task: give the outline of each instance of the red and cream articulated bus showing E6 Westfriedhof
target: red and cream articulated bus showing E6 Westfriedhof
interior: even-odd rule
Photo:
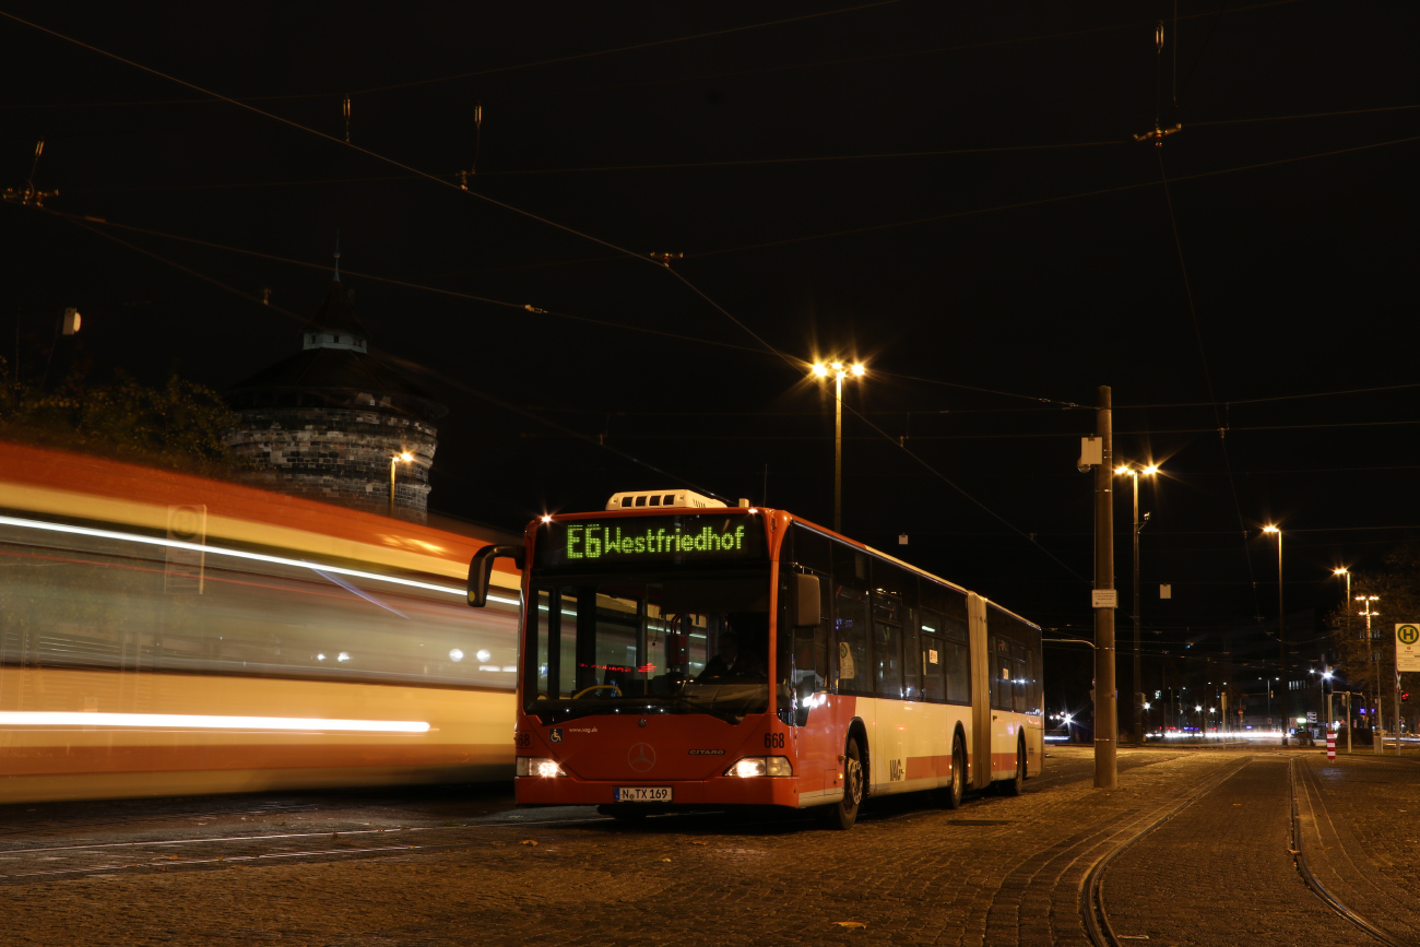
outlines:
[[[1039,628],[780,510],[687,491],[542,517],[523,569],[517,799],[613,816],[815,808],[993,781],[1044,761]]]

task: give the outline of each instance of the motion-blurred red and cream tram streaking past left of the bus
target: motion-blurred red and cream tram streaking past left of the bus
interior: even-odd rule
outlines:
[[[0,804],[511,778],[521,579],[464,605],[487,544],[4,444]]]

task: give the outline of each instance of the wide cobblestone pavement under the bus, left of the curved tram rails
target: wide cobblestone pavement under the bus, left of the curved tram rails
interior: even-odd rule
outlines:
[[[0,829],[0,943],[1083,944],[1091,865],[1242,760],[1122,751],[1119,789],[1105,792],[1089,748],[1052,747],[1022,797],[956,812],[893,797],[846,833],[746,814],[623,825],[446,791],[4,811],[31,823]],[[1223,853],[1260,825],[1227,815],[1206,835]],[[50,869],[81,873],[33,875]],[[1244,907],[1255,930],[1295,914],[1267,897]],[[1160,937],[1187,943],[1176,934]]]

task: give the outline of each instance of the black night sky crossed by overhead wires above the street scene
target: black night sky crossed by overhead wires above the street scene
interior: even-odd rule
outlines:
[[[1164,471],[1150,656],[1272,672],[1262,524],[1304,659],[1331,569],[1420,530],[1414,4],[3,9],[68,37],[0,21],[0,187],[43,136],[60,192],[0,207],[4,334],[77,305],[102,363],[223,389],[298,349],[339,230],[372,348],[450,409],[437,513],[684,484],[831,522],[807,369],[842,356],[845,531],[1066,635],[1099,385]]]

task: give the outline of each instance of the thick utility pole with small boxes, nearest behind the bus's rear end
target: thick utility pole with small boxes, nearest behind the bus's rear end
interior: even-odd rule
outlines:
[[[1115,689],[1115,447],[1110,392],[1099,386],[1095,434],[1103,450],[1095,467],[1095,788],[1119,784],[1119,691]]]

